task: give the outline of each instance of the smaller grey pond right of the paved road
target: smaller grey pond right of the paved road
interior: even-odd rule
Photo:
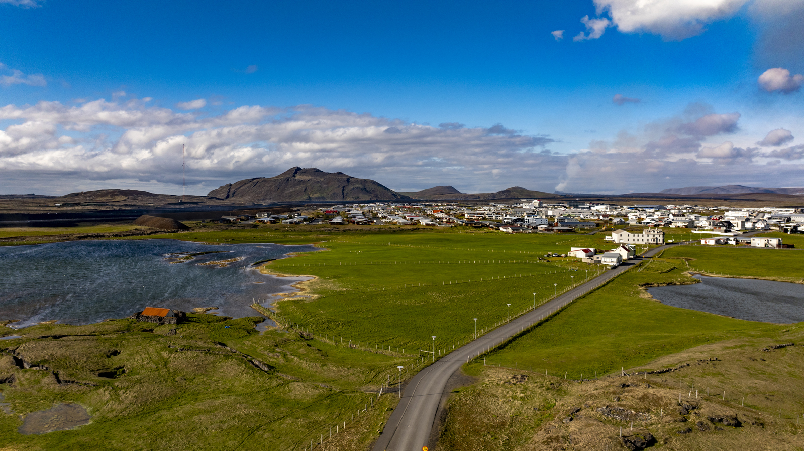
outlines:
[[[667,305],[766,323],[804,321],[804,285],[750,278],[696,275],[695,285],[654,286],[648,292]]]

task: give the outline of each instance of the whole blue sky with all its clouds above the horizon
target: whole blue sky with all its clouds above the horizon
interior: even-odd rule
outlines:
[[[399,190],[804,186],[802,19],[799,0],[0,0],[0,192],[180,193],[181,144],[191,193],[294,165]]]

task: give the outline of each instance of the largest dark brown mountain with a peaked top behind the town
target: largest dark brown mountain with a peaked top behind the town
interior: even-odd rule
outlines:
[[[213,189],[208,197],[264,204],[276,201],[392,201],[410,197],[367,178],[290,168],[276,177],[248,178]]]

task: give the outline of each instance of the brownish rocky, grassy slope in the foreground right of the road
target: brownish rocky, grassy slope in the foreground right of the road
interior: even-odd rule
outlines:
[[[435,449],[802,449],[804,349],[760,341],[695,347],[601,380],[486,367],[450,400]]]

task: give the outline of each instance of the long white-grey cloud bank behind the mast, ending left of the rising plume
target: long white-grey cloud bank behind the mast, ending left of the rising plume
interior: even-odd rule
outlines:
[[[0,120],[14,123],[0,129],[4,189],[12,181],[31,189],[58,185],[57,193],[110,180],[180,184],[182,144],[198,193],[295,165],[371,177],[398,189],[425,188],[449,173],[451,183],[481,192],[507,188],[490,185],[494,174],[505,180],[520,174],[532,182],[529,168],[564,168],[563,156],[540,152],[554,142],[549,136],[523,135],[502,124],[433,127],[306,105],[242,106],[206,116],[144,100],[100,99],[74,106],[6,105]]]

